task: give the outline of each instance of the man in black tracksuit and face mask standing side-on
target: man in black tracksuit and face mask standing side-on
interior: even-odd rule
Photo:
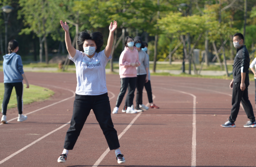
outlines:
[[[239,112],[240,102],[248,119],[250,119],[243,127],[256,127],[253,107],[248,98],[250,58],[246,46],[243,45],[243,39],[241,33],[236,33],[233,36],[233,44],[237,48],[237,54],[233,64],[233,80],[230,82],[230,89],[233,89],[232,109],[229,120],[220,125],[222,127],[235,127],[234,122]]]

